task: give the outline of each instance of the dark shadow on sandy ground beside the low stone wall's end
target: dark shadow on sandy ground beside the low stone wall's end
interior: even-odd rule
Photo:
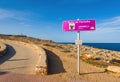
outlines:
[[[48,74],[58,74],[65,72],[61,59],[52,51],[46,50],[48,59]]]

